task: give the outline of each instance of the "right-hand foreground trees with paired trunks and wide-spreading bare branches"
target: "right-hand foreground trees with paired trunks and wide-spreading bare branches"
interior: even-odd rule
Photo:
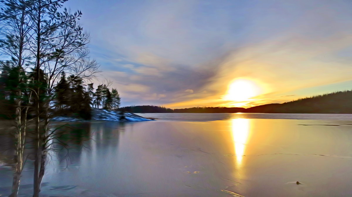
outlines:
[[[34,23],[32,28],[35,32],[32,42],[32,52],[36,59],[35,69],[43,67],[43,71],[48,76],[48,87],[46,89],[47,100],[44,109],[39,107],[39,94],[36,94],[36,133],[37,133],[37,155],[34,162],[34,196],[38,196],[40,191],[40,182],[44,175],[46,150],[49,138],[54,137],[49,129],[50,122],[50,101],[53,99],[55,86],[58,82],[59,75],[62,71],[68,71],[70,74],[90,77],[97,72],[98,65],[95,61],[88,59],[88,50],[86,43],[89,42],[89,36],[82,32],[77,20],[81,12],[73,14],[67,9],[62,9],[66,0],[31,0],[32,11],[31,20]],[[63,10],[60,12],[59,10]],[[36,76],[38,83],[39,75]],[[40,86],[40,84],[38,84]],[[39,88],[36,88],[36,93]],[[39,130],[40,111],[44,111],[45,118],[43,131]],[[39,168],[40,157],[40,168]]]

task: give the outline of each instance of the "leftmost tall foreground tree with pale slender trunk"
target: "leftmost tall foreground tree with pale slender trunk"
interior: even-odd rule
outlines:
[[[23,69],[25,61],[29,59],[28,49],[30,30],[32,23],[28,19],[30,10],[30,2],[16,1],[16,0],[3,0],[1,1],[0,11],[0,53],[6,59],[6,64],[11,68],[10,76],[10,92],[12,92],[12,100],[15,106],[15,139],[16,152],[15,161],[17,163],[15,175],[13,178],[12,193],[10,196],[17,196],[19,189],[20,174],[24,164],[24,143],[25,143],[25,130],[22,128],[23,122],[22,111],[23,95],[25,94],[25,72]],[[24,118],[26,124],[26,117]]]

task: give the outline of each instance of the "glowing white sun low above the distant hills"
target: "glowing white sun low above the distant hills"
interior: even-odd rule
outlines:
[[[259,94],[259,87],[250,80],[237,79],[228,86],[226,100],[248,101]]]

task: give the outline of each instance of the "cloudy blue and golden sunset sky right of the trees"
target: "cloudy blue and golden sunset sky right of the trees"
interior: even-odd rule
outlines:
[[[122,106],[247,108],[352,89],[349,0],[64,5],[82,11],[100,82],[114,81]],[[238,81],[251,85],[231,90]]]

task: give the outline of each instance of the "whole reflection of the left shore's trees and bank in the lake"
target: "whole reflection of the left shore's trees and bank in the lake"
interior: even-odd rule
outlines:
[[[40,186],[44,177],[45,166],[48,163],[58,162],[58,165],[68,167],[70,163],[79,161],[84,152],[88,152],[87,156],[90,159],[94,159],[97,155],[101,154],[105,156],[116,154],[120,131],[124,131],[124,128],[125,123],[116,122],[84,122],[52,125],[52,128],[50,128],[52,137],[50,140],[43,142],[43,146],[40,149],[35,148],[37,143],[36,136],[32,132],[33,128],[29,128],[29,135],[27,135],[24,148],[25,161],[35,162],[37,159],[37,162],[41,164],[38,180],[38,185]],[[17,166],[20,165],[16,152],[18,139],[16,136],[11,135],[11,129],[10,127],[3,129],[3,132],[0,134],[0,165],[11,167],[14,171],[13,187],[17,186],[18,188],[20,183],[19,177],[21,177],[21,171],[20,173],[16,173]],[[36,157],[36,151],[39,151],[39,155],[42,155],[42,152],[44,152],[45,157]]]

